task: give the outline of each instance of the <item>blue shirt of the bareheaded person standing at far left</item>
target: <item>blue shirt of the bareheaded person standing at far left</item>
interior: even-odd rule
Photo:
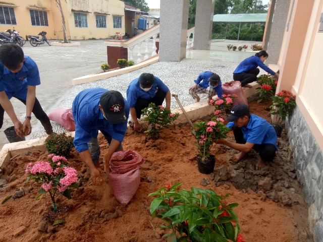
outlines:
[[[0,62],[0,92],[5,91],[9,99],[15,96],[26,100],[27,86],[40,84],[36,63],[29,56],[25,58],[21,70],[17,73],[12,73]]]

